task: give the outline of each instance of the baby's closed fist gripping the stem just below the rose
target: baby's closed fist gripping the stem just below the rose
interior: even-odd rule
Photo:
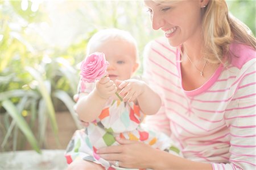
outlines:
[[[96,82],[96,90],[101,98],[108,99],[117,92],[117,86],[109,77],[103,77]]]

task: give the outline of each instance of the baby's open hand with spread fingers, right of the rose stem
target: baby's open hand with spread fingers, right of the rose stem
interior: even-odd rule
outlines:
[[[143,81],[129,79],[125,81],[116,80],[115,83],[118,89],[121,89],[119,95],[123,97],[123,101],[134,101],[144,92],[145,83]]]

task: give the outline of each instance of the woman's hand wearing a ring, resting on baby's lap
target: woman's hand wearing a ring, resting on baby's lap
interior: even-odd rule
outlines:
[[[108,160],[111,164],[119,161],[119,167],[124,168],[152,168],[155,149],[142,142],[116,138],[119,146],[101,148],[97,154]]]

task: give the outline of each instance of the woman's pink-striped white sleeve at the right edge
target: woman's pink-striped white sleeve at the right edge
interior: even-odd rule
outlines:
[[[255,114],[255,59],[241,74],[230,105],[232,112],[225,114],[230,130],[229,163],[213,163],[213,169],[256,168],[256,114]]]

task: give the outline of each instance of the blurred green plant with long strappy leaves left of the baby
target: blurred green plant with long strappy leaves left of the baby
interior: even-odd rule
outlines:
[[[42,62],[37,68],[24,68],[23,74],[26,76],[16,80],[17,84],[23,84],[22,88],[0,93],[1,106],[9,113],[4,115],[6,135],[1,145],[3,150],[10,136],[14,138],[13,148],[17,148],[15,144],[17,144],[18,140],[24,140],[18,134],[19,129],[31,146],[40,152],[39,148],[42,148],[44,144],[47,119],[51,122],[52,130],[57,136],[54,99],[63,101],[76,120],[72,107],[75,103],[72,101],[71,96],[76,93],[78,77],[76,78],[74,75],[77,74],[77,71],[69,65],[67,60],[59,57],[52,61],[48,60],[48,63]],[[14,82],[16,76],[9,79],[6,77],[10,77],[10,75],[2,76],[8,81],[1,81],[1,86]],[[76,123],[78,126],[79,123]],[[15,127],[18,127],[18,129],[16,130]],[[37,129],[37,133],[34,128]],[[33,135],[32,130],[38,135]],[[12,131],[13,135],[11,135]],[[57,139],[56,142],[58,142]],[[22,146],[20,147],[22,148]]]

